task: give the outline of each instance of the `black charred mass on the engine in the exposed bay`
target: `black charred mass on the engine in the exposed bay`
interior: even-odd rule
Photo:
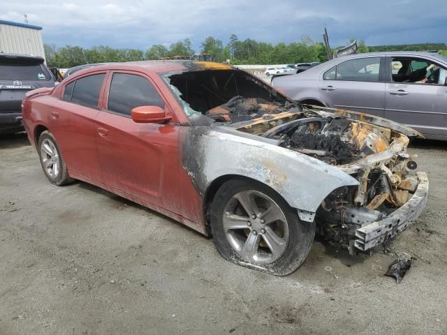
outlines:
[[[358,156],[358,150],[352,144],[343,142],[339,135],[324,135],[295,131],[286,141],[288,147],[322,150],[335,158],[338,164],[350,163]]]

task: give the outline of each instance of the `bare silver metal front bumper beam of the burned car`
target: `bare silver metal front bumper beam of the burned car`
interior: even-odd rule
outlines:
[[[405,228],[416,221],[416,218],[423,211],[428,197],[428,179],[425,172],[417,172],[419,179],[418,188],[411,198],[399,209],[393,211],[385,218],[364,225],[356,230],[356,240],[354,246],[361,251],[383,243],[387,239],[394,237]]]

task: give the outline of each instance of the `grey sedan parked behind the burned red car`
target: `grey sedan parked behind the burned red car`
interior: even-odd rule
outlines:
[[[447,140],[447,57],[432,52],[351,54],[272,85],[295,101],[372,114]]]

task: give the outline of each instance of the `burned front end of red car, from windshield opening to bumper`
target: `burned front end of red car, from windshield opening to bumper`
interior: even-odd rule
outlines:
[[[204,196],[225,175],[256,179],[351,254],[394,237],[423,211],[427,175],[406,152],[409,137],[422,135],[411,128],[297,105],[234,68],[162,77],[190,115],[184,168]]]

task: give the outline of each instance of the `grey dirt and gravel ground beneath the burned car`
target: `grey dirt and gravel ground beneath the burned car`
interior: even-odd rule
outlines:
[[[446,334],[446,144],[409,151],[430,198],[388,253],[315,241],[281,278],[99,188],[50,185],[27,138],[3,137],[0,334]],[[397,285],[383,274],[402,252],[417,260]]]

